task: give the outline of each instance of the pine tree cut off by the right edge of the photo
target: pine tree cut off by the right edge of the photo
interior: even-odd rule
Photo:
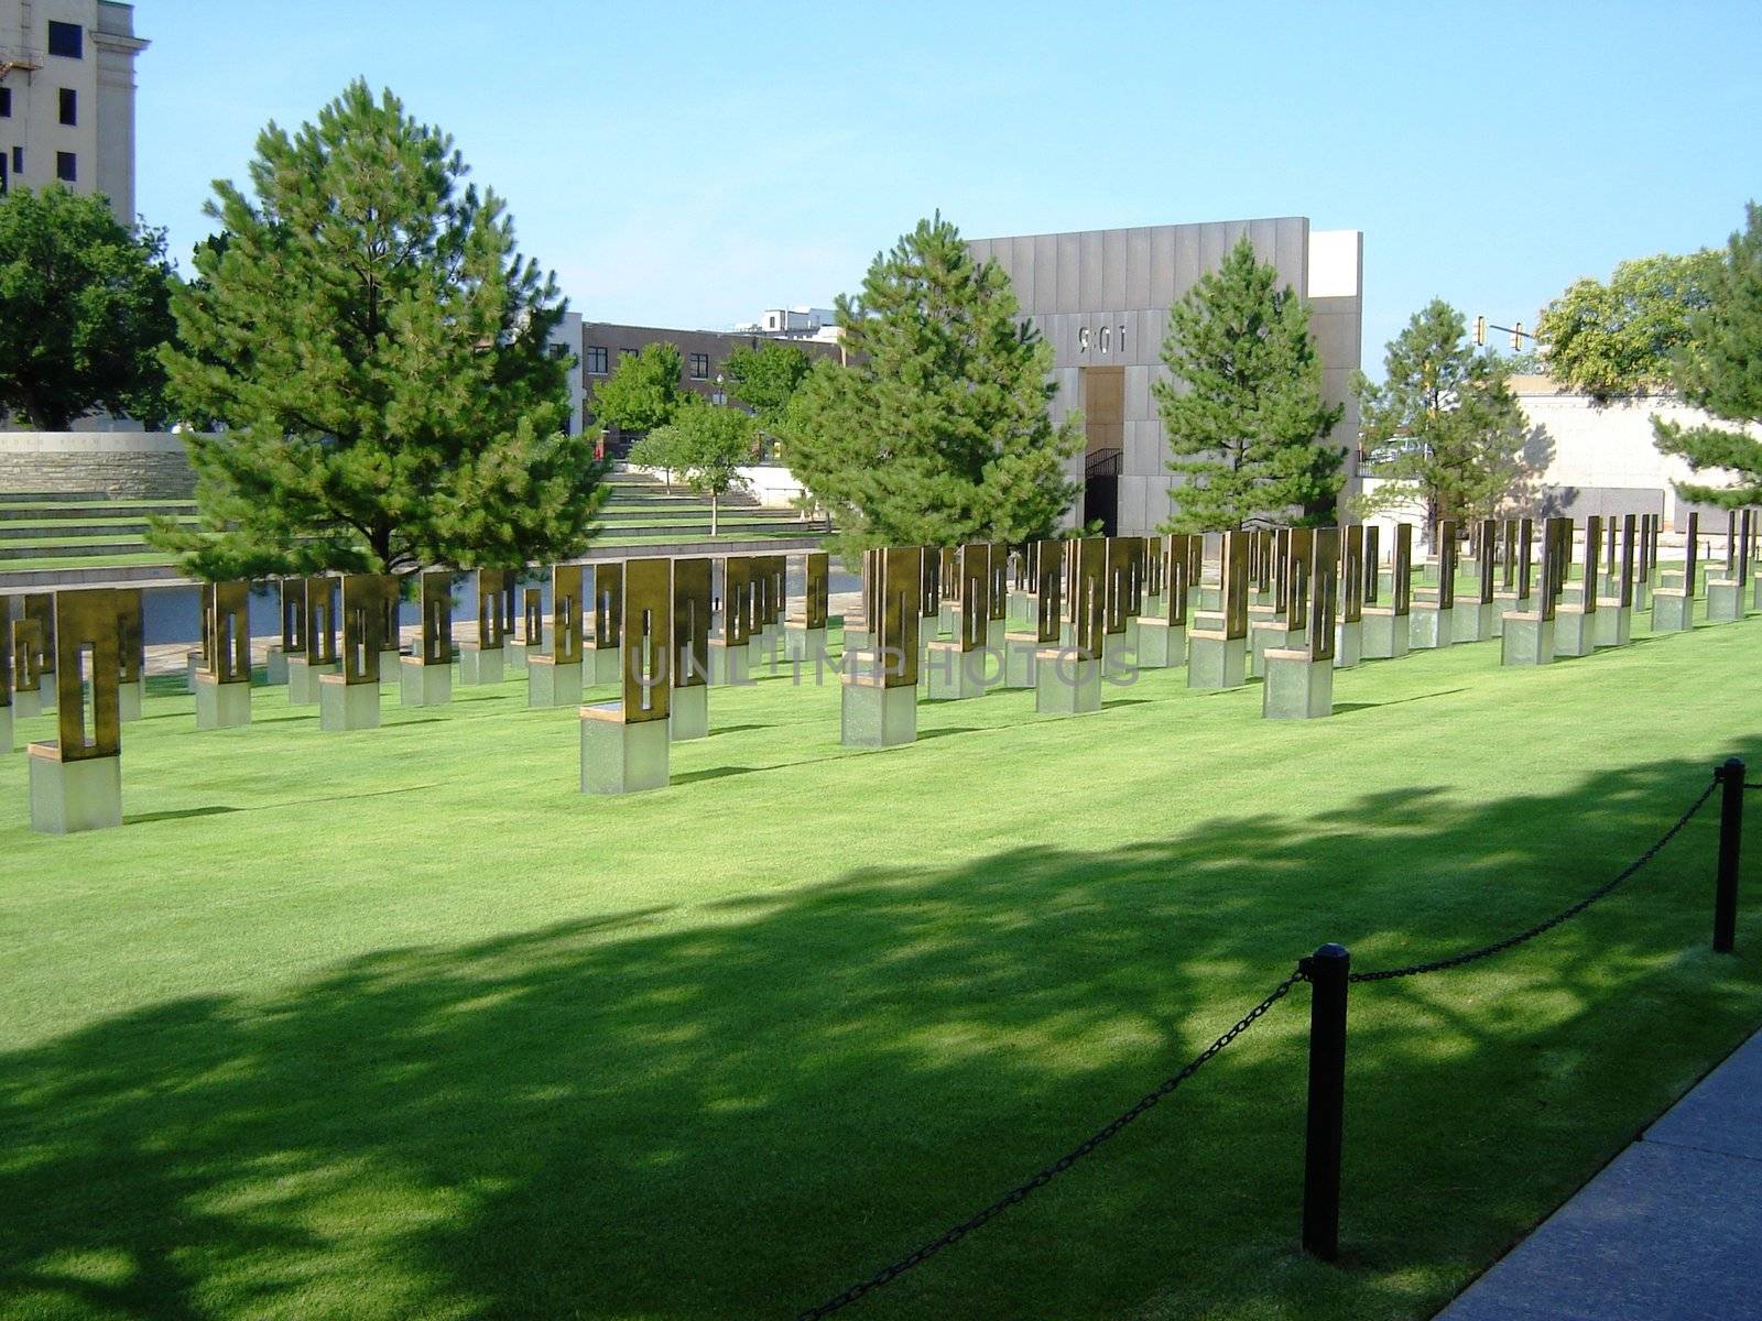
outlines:
[[[1762,206],[1744,208],[1744,231],[1732,234],[1714,269],[1707,306],[1690,321],[1688,349],[1677,358],[1683,398],[1721,423],[1762,423]],[[1723,469],[1721,486],[1676,483],[1684,500],[1741,509],[1762,504],[1762,440],[1734,426],[1684,426],[1653,417],[1656,446],[1681,454],[1695,472]]]

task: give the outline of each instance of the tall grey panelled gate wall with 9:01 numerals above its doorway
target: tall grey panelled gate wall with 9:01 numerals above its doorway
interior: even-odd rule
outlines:
[[[1154,532],[1170,513],[1168,447],[1151,382],[1161,365],[1168,308],[1242,238],[1309,303],[1322,354],[1322,393],[1346,412],[1334,440],[1348,454],[1355,490],[1359,409],[1351,375],[1364,340],[1364,236],[1313,231],[1302,217],[1142,229],[1025,234],[969,243],[1015,285],[1022,314],[1052,345],[1054,423],[1084,412],[1085,451],[1071,461],[1084,481],[1073,521],[1101,520],[1110,534]]]

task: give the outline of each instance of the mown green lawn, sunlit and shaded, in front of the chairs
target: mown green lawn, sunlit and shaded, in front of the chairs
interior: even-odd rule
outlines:
[[[1314,724],[1168,671],[1075,720],[923,705],[886,752],[765,680],[629,800],[516,682],[354,734],[153,697],[125,830],[32,835],[0,766],[0,1316],[791,1317],[1318,942],[1443,955],[1612,875],[1762,757],[1758,652],[1415,653]],[[1295,1251],[1299,988],[849,1316],[1429,1316],[1762,1023],[1757,868],[1714,956],[1713,847],[1709,810],[1547,937],[1355,988],[1339,1266]]]

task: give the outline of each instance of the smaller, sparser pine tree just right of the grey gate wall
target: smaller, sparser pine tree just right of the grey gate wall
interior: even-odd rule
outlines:
[[[1360,373],[1362,444],[1385,484],[1360,513],[1418,504],[1440,518],[1491,518],[1519,495],[1528,428],[1498,358],[1468,342],[1462,314],[1441,299],[1415,312],[1388,343],[1385,380]]]

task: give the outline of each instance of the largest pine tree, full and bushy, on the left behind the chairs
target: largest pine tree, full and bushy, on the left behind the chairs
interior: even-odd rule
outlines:
[[[451,137],[361,81],[217,183],[222,241],[173,298],[171,391],[224,430],[187,437],[203,527],[160,525],[204,578],[578,555],[601,470],[569,437],[562,303],[515,250]]]

